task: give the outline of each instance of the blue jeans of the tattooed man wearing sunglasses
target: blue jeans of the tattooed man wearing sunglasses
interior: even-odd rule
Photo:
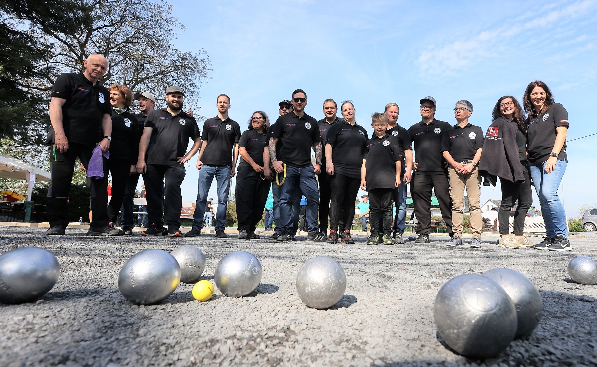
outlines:
[[[280,222],[282,231],[292,231],[300,215],[301,192],[307,198],[307,231],[318,233],[319,190],[313,166],[304,168],[286,165],[286,179],[280,191]],[[293,210],[298,204],[299,210]]]

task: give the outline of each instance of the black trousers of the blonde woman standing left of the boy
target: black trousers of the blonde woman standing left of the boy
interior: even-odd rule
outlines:
[[[330,231],[346,231],[352,227],[355,217],[355,199],[361,185],[360,178],[335,173],[328,176],[332,191],[330,201]]]

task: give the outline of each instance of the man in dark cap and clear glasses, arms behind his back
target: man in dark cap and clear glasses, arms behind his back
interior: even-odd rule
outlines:
[[[435,189],[439,209],[446,223],[446,229],[452,236],[452,204],[445,160],[441,148],[442,133],[451,127],[447,122],[436,120],[435,98],[421,99],[421,122],[408,129],[415,149],[415,173],[411,181],[411,195],[413,195],[414,213],[417,216],[416,243],[429,242],[431,233],[431,191]]]

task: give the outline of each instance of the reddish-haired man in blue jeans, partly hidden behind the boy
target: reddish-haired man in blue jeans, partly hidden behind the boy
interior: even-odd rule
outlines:
[[[394,203],[396,204],[396,215],[394,217],[393,241],[397,245],[404,244],[404,231],[407,225],[407,185],[411,181],[411,172],[413,172],[413,144],[408,130],[398,124],[398,115],[400,107],[395,103],[386,104],[384,113],[387,116],[387,134],[398,140],[398,145],[404,155],[402,155],[402,184],[394,190]]]

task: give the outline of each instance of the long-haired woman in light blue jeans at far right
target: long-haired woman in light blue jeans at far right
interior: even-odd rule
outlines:
[[[528,113],[529,169],[547,234],[540,244],[533,247],[538,250],[570,251],[566,214],[558,197],[558,187],[568,164],[568,111],[553,100],[547,85],[539,81],[527,86],[522,102]]]

